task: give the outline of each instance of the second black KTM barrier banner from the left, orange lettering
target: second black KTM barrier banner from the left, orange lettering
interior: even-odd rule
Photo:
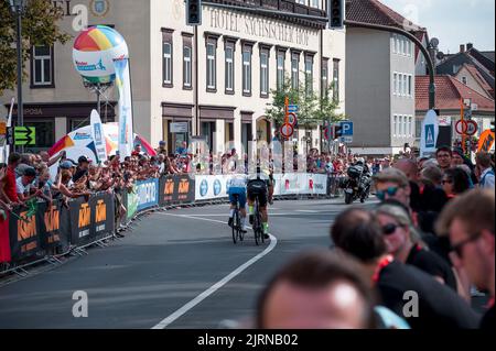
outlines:
[[[47,202],[39,202],[36,221],[40,228],[41,246],[44,250],[57,246],[67,248],[69,243],[69,215],[62,201],[54,201],[48,208]]]

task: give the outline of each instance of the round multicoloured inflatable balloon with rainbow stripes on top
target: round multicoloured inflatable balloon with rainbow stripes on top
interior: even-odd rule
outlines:
[[[76,37],[73,62],[76,70],[89,83],[111,83],[116,79],[114,59],[129,57],[128,45],[116,30],[97,25]]]

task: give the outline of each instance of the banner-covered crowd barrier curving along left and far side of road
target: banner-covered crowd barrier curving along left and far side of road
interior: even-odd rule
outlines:
[[[209,177],[213,184],[207,182],[205,186],[205,183],[197,184],[196,178],[192,179],[188,175],[162,176],[160,179],[137,182],[132,190],[98,193],[91,195],[88,201],[84,198],[71,200],[68,208],[62,201],[54,201],[51,209],[46,202],[39,202],[36,213],[17,209],[10,213],[7,227],[4,223],[0,226],[0,230],[3,230],[0,235],[9,237],[11,254],[8,263],[0,262],[3,265],[0,266],[0,277],[9,274],[24,277],[30,274],[26,270],[30,266],[41,263],[57,265],[64,256],[86,255],[87,248],[105,248],[109,240],[123,238],[122,231],[132,231],[131,224],[139,221],[141,216],[159,209],[227,204],[226,196],[201,198],[202,191],[207,191],[208,186],[215,188],[219,179],[216,178],[219,176]],[[312,175],[306,177],[312,178]],[[205,176],[197,178],[204,182]],[[322,194],[279,194],[274,200],[334,198],[339,195],[342,178],[338,175],[328,176]],[[121,205],[126,211],[121,211]],[[26,215],[31,217],[26,218]]]

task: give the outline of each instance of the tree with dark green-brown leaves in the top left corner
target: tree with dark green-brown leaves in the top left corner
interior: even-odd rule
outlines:
[[[22,58],[23,79],[28,74],[25,62],[29,61],[33,45],[52,46],[55,43],[65,44],[71,35],[58,28],[64,12],[48,0],[29,0],[22,15]],[[4,90],[15,88],[17,84],[17,18],[9,9],[9,2],[0,0],[0,95]]]

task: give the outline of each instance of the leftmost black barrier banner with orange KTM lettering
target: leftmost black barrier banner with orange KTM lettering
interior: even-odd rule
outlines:
[[[9,219],[10,251],[13,262],[33,256],[41,251],[40,221],[36,213],[26,217],[30,213],[22,208],[15,209],[14,213],[17,216],[11,215]]]

